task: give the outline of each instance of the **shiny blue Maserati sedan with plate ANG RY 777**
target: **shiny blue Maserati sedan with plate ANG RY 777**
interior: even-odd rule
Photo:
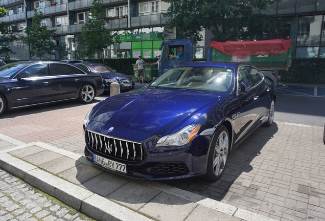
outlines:
[[[252,65],[191,62],[112,96],[84,120],[85,156],[139,179],[220,178],[229,153],[271,126],[274,85]]]

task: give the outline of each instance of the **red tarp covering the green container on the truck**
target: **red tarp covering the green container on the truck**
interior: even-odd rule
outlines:
[[[275,55],[284,54],[290,48],[292,40],[273,39],[259,41],[213,41],[210,48],[215,48],[226,55]]]

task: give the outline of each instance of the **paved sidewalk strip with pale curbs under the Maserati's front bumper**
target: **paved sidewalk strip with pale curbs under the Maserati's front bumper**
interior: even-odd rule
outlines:
[[[2,169],[98,220],[274,220],[159,182],[107,173],[48,144],[1,139],[10,146],[0,151]]]

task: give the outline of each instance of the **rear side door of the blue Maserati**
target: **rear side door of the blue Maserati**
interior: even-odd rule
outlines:
[[[271,103],[271,84],[263,80],[263,75],[258,69],[251,66],[246,66],[245,68],[253,80],[254,87],[256,87],[257,96],[259,96],[257,124],[260,124],[268,114],[268,109]]]

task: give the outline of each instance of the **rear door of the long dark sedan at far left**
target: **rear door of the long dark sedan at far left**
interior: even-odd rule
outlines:
[[[86,74],[68,63],[51,63],[50,70],[53,76],[53,100],[77,98]]]

